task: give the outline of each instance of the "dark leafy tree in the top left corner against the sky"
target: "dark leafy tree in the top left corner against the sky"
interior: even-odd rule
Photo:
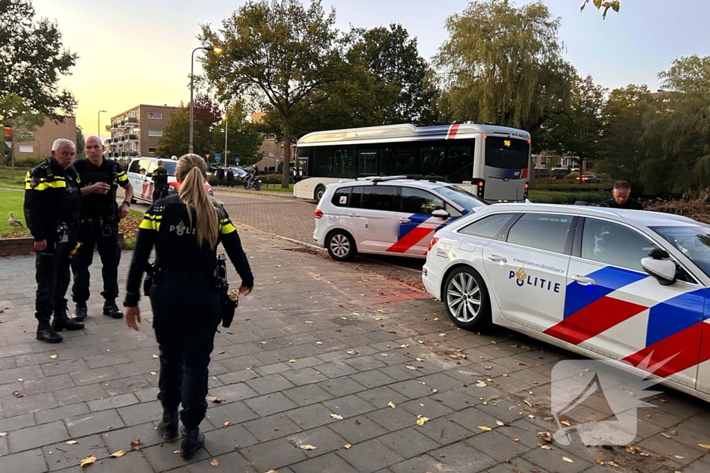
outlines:
[[[57,23],[35,18],[30,0],[0,0],[0,57],[0,123],[21,113],[11,96],[54,121],[72,113],[77,101],[58,82],[77,55],[63,47]]]

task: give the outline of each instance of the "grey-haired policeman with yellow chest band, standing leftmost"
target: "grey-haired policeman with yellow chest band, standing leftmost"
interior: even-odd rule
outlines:
[[[61,330],[84,328],[83,323],[67,316],[65,299],[82,206],[77,173],[72,167],[75,155],[74,143],[64,138],[55,140],[52,157],[25,177],[25,221],[35,240],[35,338],[47,343],[61,342],[62,335],[57,333]]]

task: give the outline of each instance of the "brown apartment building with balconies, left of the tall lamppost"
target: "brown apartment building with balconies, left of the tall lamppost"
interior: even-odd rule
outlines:
[[[120,163],[129,162],[135,156],[155,156],[163,128],[168,126],[168,118],[175,108],[141,104],[111,117],[111,123],[106,126],[111,132],[111,138],[104,143],[106,156]]]

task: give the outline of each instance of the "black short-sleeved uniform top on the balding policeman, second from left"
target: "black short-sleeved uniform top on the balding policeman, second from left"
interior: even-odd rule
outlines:
[[[85,159],[75,162],[74,167],[79,174],[80,188],[97,182],[111,186],[106,194],[87,194],[82,197],[82,219],[115,218],[118,213],[116,189],[129,185],[129,178],[121,165],[104,157],[100,166]]]

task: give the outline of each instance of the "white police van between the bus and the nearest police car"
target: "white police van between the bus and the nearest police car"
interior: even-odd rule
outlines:
[[[486,205],[435,179],[361,177],[326,188],[315,210],[313,240],[335,260],[357,252],[423,258],[436,230]]]

